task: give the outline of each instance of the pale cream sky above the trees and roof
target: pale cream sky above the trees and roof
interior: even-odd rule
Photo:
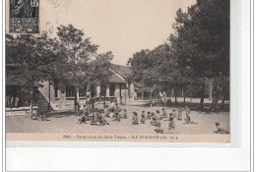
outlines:
[[[112,51],[112,63],[126,65],[133,54],[154,49],[173,32],[178,8],[196,0],[43,0],[39,4],[40,30],[72,24],[99,45],[98,53]]]

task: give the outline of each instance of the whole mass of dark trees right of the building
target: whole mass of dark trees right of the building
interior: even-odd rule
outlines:
[[[162,89],[196,89],[203,107],[206,80],[221,86],[229,79],[229,0],[197,0],[186,12],[178,9],[172,29],[168,43],[129,59],[133,78]]]

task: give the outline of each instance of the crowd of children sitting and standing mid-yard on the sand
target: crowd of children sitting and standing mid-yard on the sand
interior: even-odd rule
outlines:
[[[113,121],[121,121],[121,119],[127,119],[127,111],[126,109],[121,109],[117,103],[111,103],[109,106],[106,105],[104,108],[104,113],[100,114],[98,112],[93,112],[93,109],[89,104],[85,104],[83,106],[83,113],[81,119],[79,119],[80,124],[87,124],[87,121],[90,121],[91,125],[104,126],[109,125],[105,118],[113,118]],[[190,117],[190,109],[186,106],[185,108],[178,108],[178,113],[176,114],[176,110],[172,109],[172,111],[167,115],[167,112],[164,108],[160,110],[156,110],[156,112],[146,112],[142,111],[141,118],[139,120],[139,116],[137,112],[133,112],[132,117],[132,125],[146,124],[147,120],[151,120],[150,124],[155,126],[157,133],[163,133],[161,129],[161,120],[169,121],[168,130],[175,129],[174,119],[177,117],[177,120],[182,120],[183,111],[186,112],[185,124],[196,124],[191,121]]]

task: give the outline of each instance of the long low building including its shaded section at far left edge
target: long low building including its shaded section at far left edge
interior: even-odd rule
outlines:
[[[110,70],[112,75],[108,78],[108,83],[105,86],[88,84],[77,92],[80,104],[84,104],[88,96],[94,97],[96,101],[103,101],[104,98],[106,101],[115,100],[118,104],[132,104],[134,102],[137,95],[134,91],[134,85],[128,79],[132,73],[130,67],[112,64]],[[50,109],[74,108],[75,90],[73,87],[66,86],[65,90],[61,90],[48,81],[39,85],[36,87],[36,96],[43,99]],[[14,99],[19,97],[19,107],[29,106],[30,101],[28,93],[26,93],[26,86],[21,83],[10,82],[7,77],[6,92],[6,101],[9,101],[10,97]]]

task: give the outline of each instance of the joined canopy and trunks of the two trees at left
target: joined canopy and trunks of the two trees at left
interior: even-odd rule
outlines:
[[[97,45],[85,37],[84,31],[72,25],[57,28],[57,37],[46,32],[40,35],[6,35],[6,61],[15,64],[16,70],[8,70],[8,79],[23,81],[26,86],[51,81],[60,89],[70,86],[77,92],[87,84],[100,85],[111,75],[111,52],[97,54]],[[31,96],[32,106],[32,96]],[[75,108],[76,110],[76,108]],[[76,111],[77,112],[77,111]]]

